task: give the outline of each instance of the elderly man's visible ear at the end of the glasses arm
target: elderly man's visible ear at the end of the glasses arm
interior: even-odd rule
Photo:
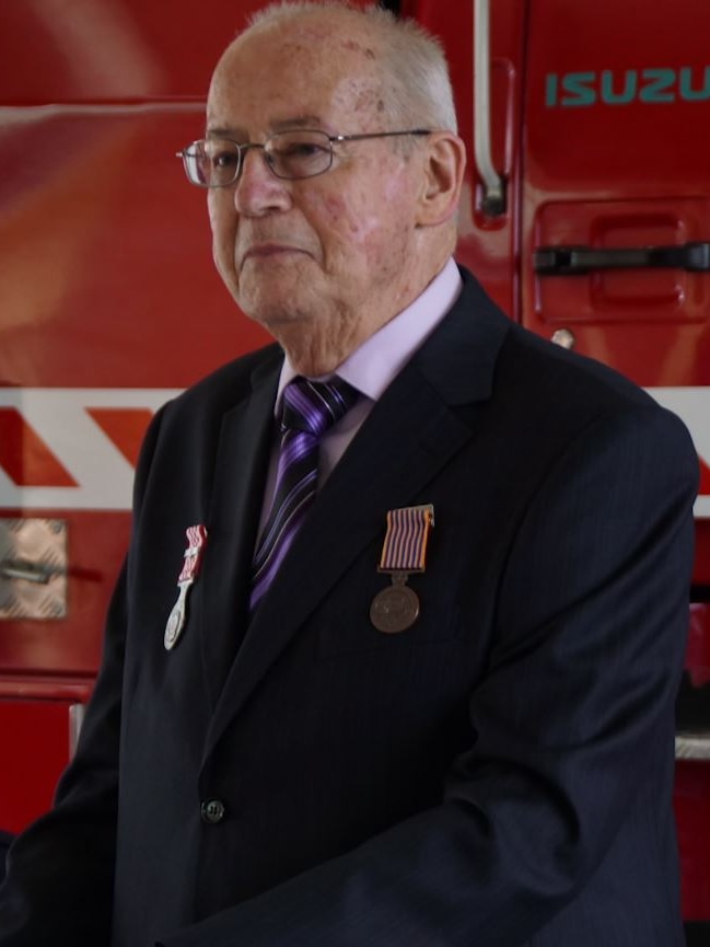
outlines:
[[[426,142],[418,227],[435,227],[456,212],[466,168],[466,146],[453,131],[434,131]]]

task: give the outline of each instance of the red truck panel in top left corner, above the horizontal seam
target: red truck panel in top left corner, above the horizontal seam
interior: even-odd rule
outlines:
[[[224,47],[266,5],[212,0],[207,11],[162,0],[4,2],[0,101],[202,100]]]

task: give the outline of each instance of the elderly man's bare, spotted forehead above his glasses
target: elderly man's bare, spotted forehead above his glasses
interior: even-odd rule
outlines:
[[[208,125],[256,112],[267,123],[323,112],[366,124],[384,107],[377,37],[360,23],[310,16],[265,24],[228,47],[212,77]]]

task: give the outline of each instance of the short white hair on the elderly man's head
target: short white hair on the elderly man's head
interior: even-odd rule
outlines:
[[[240,34],[288,24],[324,11],[340,11],[370,26],[382,44],[383,100],[393,122],[408,128],[457,131],[449,66],[440,41],[414,20],[348,0],[282,0],[258,10]]]

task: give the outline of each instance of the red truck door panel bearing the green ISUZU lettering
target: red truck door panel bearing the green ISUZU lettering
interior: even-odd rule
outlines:
[[[703,0],[542,0],[531,13],[523,321],[547,336],[574,321],[579,350],[644,385],[710,383],[710,276],[536,277],[533,253],[710,240],[708,26]]]

